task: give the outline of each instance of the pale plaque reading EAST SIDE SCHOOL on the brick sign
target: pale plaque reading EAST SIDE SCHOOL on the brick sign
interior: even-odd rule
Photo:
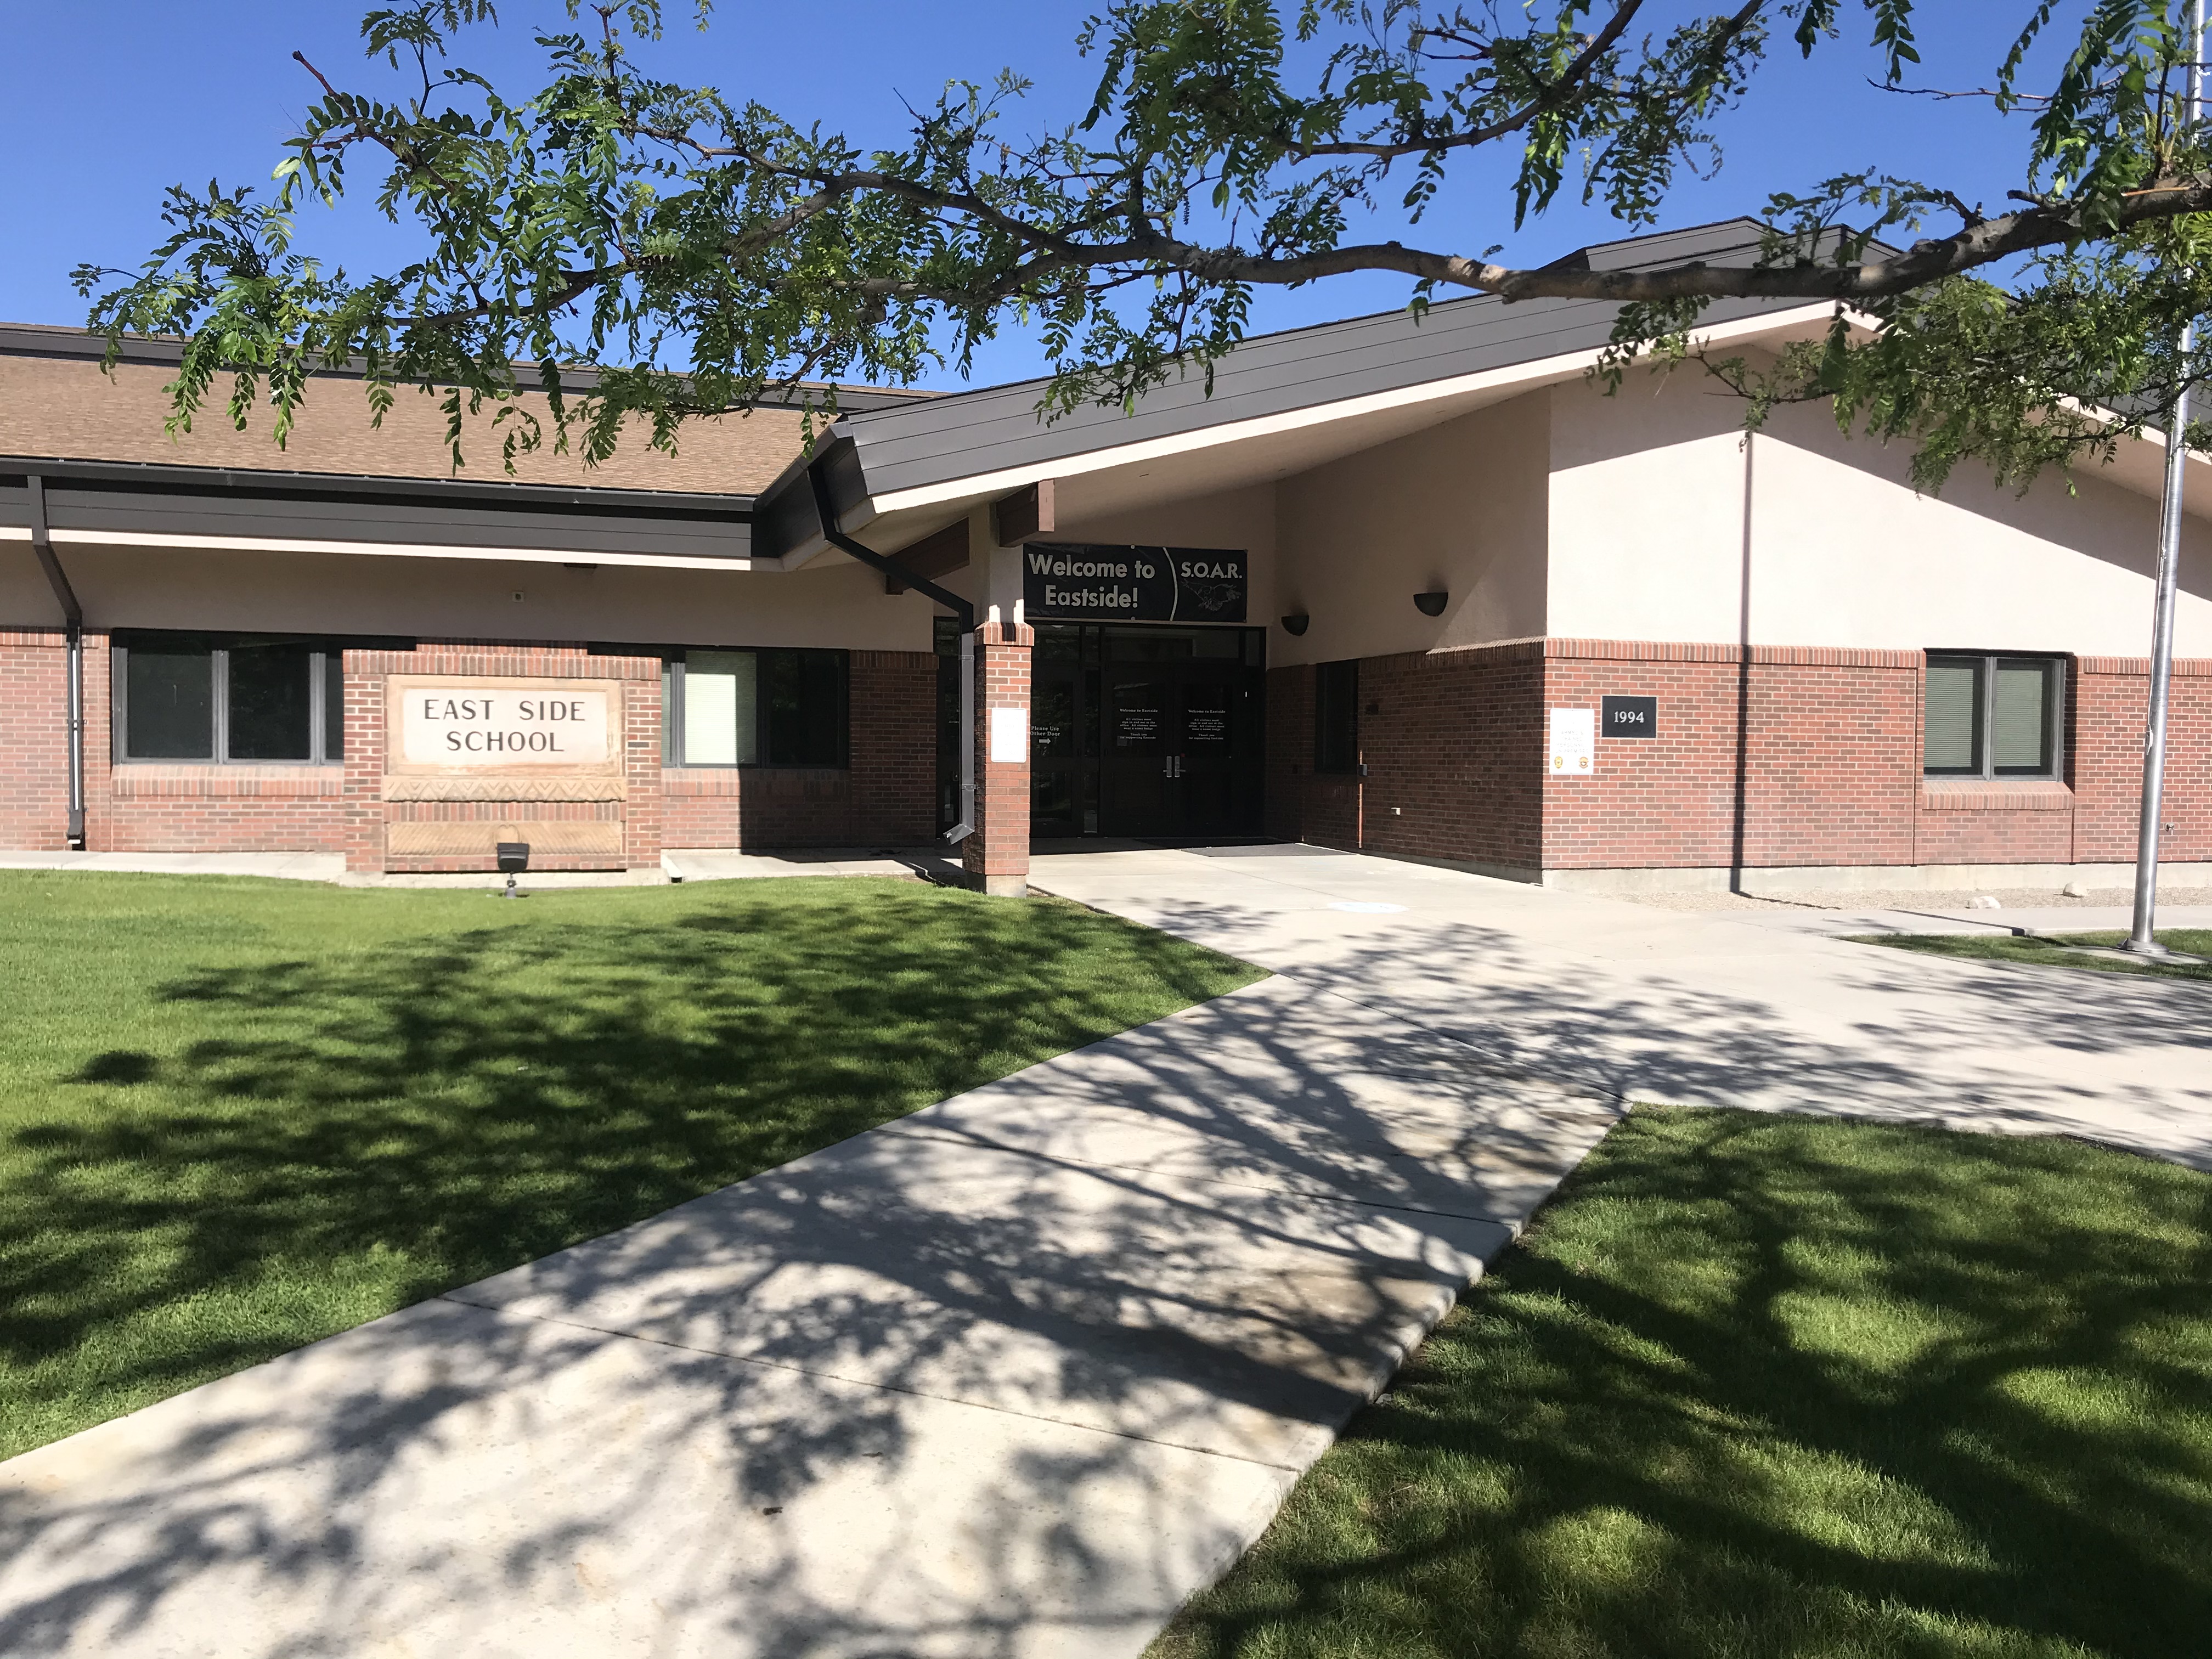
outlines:
[[[387,681],[392,768],[599,772],[619,763],[622,690],[604,679]]]

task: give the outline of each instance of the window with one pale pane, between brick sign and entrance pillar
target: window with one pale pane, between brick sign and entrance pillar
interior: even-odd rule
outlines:
[[[845,765],[843,650],[677,650],[661,690],[668,765]]]

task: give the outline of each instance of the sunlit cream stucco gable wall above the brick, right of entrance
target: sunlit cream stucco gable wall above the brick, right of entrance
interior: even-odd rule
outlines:
[[[1825,409],[1743,409],[1694,374],[1553,394],[1551,633],[1774,646],[2143,655],[2157,502],[2095,471],[2028,495],[1960,467],[1916,495],[1909,451]],[[1747,560],[1747,566],[1745,566]],[[2177,650],[2212,655],[2212,531],[2185,520]]]

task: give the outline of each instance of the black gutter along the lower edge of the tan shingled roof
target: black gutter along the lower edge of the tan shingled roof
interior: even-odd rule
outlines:
[[[150,460],[66,460],[0,456],[0,482],[40,476],[49,484],[113,493],[228,495],[270,502],[376,502],[502,513],[597,513],[606,518],[679,518],[748,522],[752,495],[708,495],[688,489],[595,489],[476,478],[383,478],[374,473],[281,473],[257,467],[170,467]]]

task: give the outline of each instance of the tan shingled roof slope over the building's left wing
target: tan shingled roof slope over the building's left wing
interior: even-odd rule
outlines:
[[[66,460],[144,460],[175,467],[254,467],[272,471],[369,473],[378,478],[451,478],[445,411],[438,398],[403,389],[383,427],[369,425],[361,380],[321,378],[310,392],[283,449],[270,438],[261,409],[248,431],[230,425],[221,400],[195,416],[192,431],[170,438],[161,422],[170,369],[119,363],[108,378],[82,358],[0,356],[0,453]],[[223,387],[228,394],[228,387]],[[544,398],[526,398],[544,411]],[[757,409],[684,425],[675,456],[648,447],[633,429],[599,467],[575,456],[540,451],[518,456],[515,471],[500,462],[504,429],[491,414],[471,420],[462,440],[462,478],[538,484],[599,484],[611,489],[697,489],[748,495],[765,489],[799,453],[796,409]]]

